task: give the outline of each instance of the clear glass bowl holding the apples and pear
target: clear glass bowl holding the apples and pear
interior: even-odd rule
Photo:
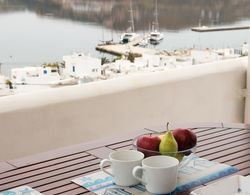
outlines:
[[[145,155],[145,157],[155,156],[155,155],[166,155],[166,156],[175,157],[181,163],[184,163],[182,161],[184,161],[184,159],[186,161],[191,156],[191,154],[194,154],[195,151],[196,151],[196,145],[193,146],[192,148],[189,148],[189,149],[186,149],[186,150],[177,151],[177,152],[162,152],[162,153],[160,153],[159,151],[144,149],[144,148],[141,148],[141,147],[137,146],[137,140],[141,136],[145,136],[145,135],[150,135],[150,136],[152,135],[152,136],[158,136],[158,137],[160,137],[160,136],[162,136],[162,133],[159,133],[159,134],[158,133],[142,134],[142,135],[139,135],[139,136],[137,136],[136,138],[133,139],[133,142],[132,142],[133,149],[142,152]]]

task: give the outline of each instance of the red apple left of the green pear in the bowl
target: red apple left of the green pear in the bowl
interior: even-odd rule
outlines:
[[[141,135],[136,142],[138,150],[143,152],[146,157],[156,155],[159,152],[161,139],[157,135]],[[157,151],[157,152],[154,152]]]

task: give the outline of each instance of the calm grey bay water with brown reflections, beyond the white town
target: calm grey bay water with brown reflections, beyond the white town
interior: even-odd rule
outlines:
[[[132,3],[136,31],[148,32],[155,0]],[[159,26],[165,39],[151,47],[240,48],[249,40],[249,30],[197,33],[190,28],[199,21],[207,26],[249,26],[248,4],[244,0],[159,1]],[[9,75],[14,67],[60,62],[73,52],[102,57],[95,46],[102,40],[119,40],[129,27],[129,9],[128,0],[0,0],[1,72]]]

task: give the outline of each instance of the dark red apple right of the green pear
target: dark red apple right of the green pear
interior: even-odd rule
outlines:
[[[173,135],[179,151],[193,148],[197,143],[197,137],[190,129],[175,129],[173,130]]]

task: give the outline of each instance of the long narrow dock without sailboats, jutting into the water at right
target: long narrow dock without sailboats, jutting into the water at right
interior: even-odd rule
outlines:
[[[213,31],[228,31],[228,30],[247,30],[250,29],[250,26],[236,26],[236,27],[208,27],[208,26],[199,26],[191,28],[195,32],[213,32]]]

